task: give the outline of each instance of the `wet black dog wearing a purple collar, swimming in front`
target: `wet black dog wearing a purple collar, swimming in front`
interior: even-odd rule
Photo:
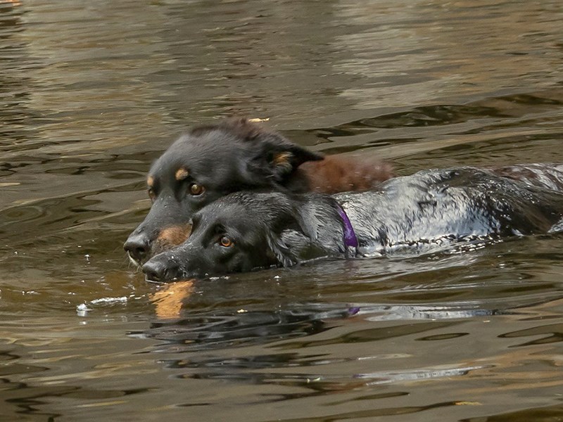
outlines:
[[[334,196],[239,192],[197,212],[189,239],[143,271],[149,280],[172,281],[317,257],[420,251],[547,233],[562,217],[563,165],[426,170],[375,191]]]

